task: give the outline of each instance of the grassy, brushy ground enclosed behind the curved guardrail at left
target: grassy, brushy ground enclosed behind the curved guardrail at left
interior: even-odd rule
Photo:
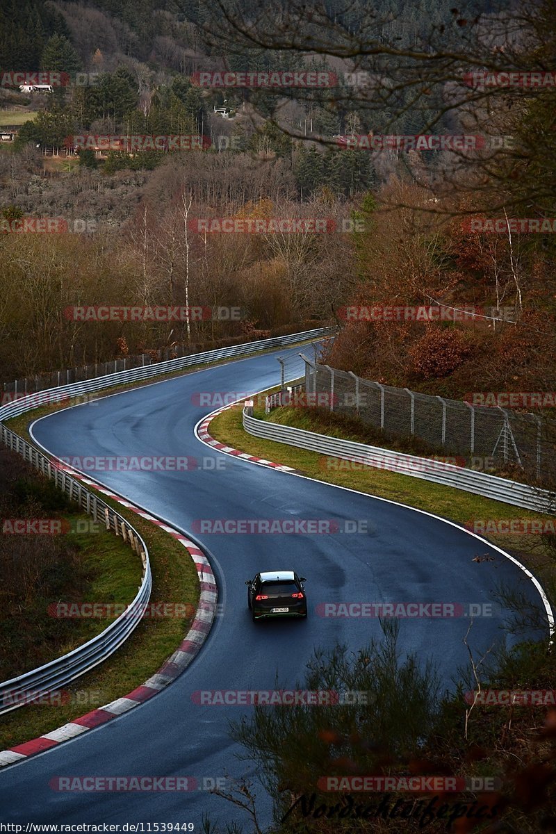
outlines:
[[[58,618],[49,606],[62,600],[128,605],[142,565],[121,537],[83,513],[15,453],[0,450],[0,475],[5,534],[0,539],[0,668],[2,680],[8,680],[81,646],[116,619]],[[21,521],[30,523],[31,532],[17,535]],[[52,532],[40,535],[39,524]]]

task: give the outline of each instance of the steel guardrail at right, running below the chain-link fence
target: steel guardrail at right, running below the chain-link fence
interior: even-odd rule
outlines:
[[[380,449],[378,446],[368,446],[352,440],[318,435],[293,426],[278,425],[268,420],[258,420],[253,417],[252,405],[246,404],[243,407],[243,428],[250,435],[264,440],[275,440],[278,443],[298,446],[299,449],[318,452],[320,455],[352,460],[360,465],[398,472],[401,475],[412,475],[414,478],[453,486],[456,490],[483,495],[484,498],[504,501],[526,510],[556,513],[556,494],[548,490],[536,489],[519,484],[518,481],[498,478],[496,475],[487,475],[439,460],[404,455],[401,452]]]

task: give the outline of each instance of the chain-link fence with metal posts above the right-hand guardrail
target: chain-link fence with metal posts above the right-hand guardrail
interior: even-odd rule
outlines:
[[[423,440],[473,468],[519,467],[539,485],[556,480],[556,420],[393,388],[303,359],[305,390],[321,407],[388,435]]]

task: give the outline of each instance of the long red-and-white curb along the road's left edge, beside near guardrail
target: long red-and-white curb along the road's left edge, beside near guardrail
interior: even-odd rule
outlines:
[[[58,730],[45,733],[44,736],[35,738],[32,741],[25,741],[23,744],[10,747],[8,750],[0,751],[0,767],[15,764],[17,761],[23,761],[23,759],[29,756],[35,756],[37,753],[58,746],[63,741],[68,741],[70,738],[80,736],[83,732],[93,730],[94,727],[105,724],[107,721],[121,716],[123,712],[132,710],[134,706],[148,701],[149,698],[157,695],[165,686],[175,681],[178,675],[181,675],[183,670],[189,666],[191,661],[193,661],[193,657],[198,654],[201,646],[203,646],[204,641],[208,637],[208,632],[213,625],[218,589],[213,570],[207,557],[203,554],[203,550],[200,550],[198,545],[188,539],[186,535],[179,533],[178,530],[174,530],[173,527],[164,524],[159,519],[154,518],[153,515],[149,515],[144,510],[140,510],[138,507],[130,504],[121,495],[115,495],[103,486],[98,485],[96,481],[81,475],[81,473],[75,472],[72,475],[78,478],[78,480],[83,481],[83,484],[93,486],[96,490],[102,492],[103,495],[108,495],[109,498],[118,501],[118,504],[127,507],[128,510],[133,510],[134,513],[137,513],[143,519],[156,524],[161,530],[165,530],[187,548],[197,568],[201,588],[198,609],[185,639],[180,643],[176,651],[173,652],[173,655],[170,655],[164,661],[163,666],[148,681],[145,681],[142,686],[138,686],[137,689],[134,689],[133,692],[129,692],[128,695],[122,698],[117,698],[116,701],[99,706],[98,709],[88,712],[84,716],[79,716],[73,719],[73,721],[69,721],[68,724],[58,727]]]

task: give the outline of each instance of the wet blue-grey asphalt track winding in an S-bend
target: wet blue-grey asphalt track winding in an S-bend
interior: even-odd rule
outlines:
[[[497,550],[453,525],[406,507],[341,490],[295,475],[220,455],[193,435],[213,410],[199,405],[202,392],[265,389],[278,382],[277,355],[294,368],[298,348],[243,359],[181,378],[115,394],[60,411],[33,426],[35,439],[61,457],[95,455],[190,455],[192,471],[92,472],[89,475],[137,502],[201,542],[212,562],[223,615],[188,670],[142,706],[29,761],[0,772],[3,822],[188,822],[200,831],[203,812],[215,822],[247,821],[233,806],[207,791],[61,792],[58,776],[193,776],[200,786],[224,774],[253,776],[238,761],[228,738],[228,720],[245,706],[199,705],[194,693],[208,690],[268,690],[278,671],[283,686],[303,681],[315,646],[346,642],[357,649],[380,635],[377,618],[324,617],[326,602],[437,602],[483,606],[501,583],[522,590],[543,610],[538,591],[523,571]],[[291,377],[295,375],[292,371]],[[218,400],[213,407],[218,407]],[[216,469],[224,461],[225,469]],[[328,522],[314,535],[197,532],[202,520],[305,520]],[[348,523],[348,525],[347,525]],[[346,525],[355,532],[344,531]],[[205,527],[206,529],[206,527]],[[337,530],[338,531],[335,531]],[[476,555],[493,560],[473,561]],[[244,580],[258,570],[293,569],[308,578],[309,616],[303,621],[254,625]],[[173,601],[173,600],[171,600]],[[475,608],[475,611],[477,608]],[[485,609],[487,611],[488,609]],[[400,646],[438,663],[450,686],[467,662],[463,636],[468,618],[401,620]],[[473,650],[510,641],[501,615],[473,623]],[[122,693],[125,694],[125,693]],[[211,781],[205,781],[211,785]],[[258,791],[263,822],[268,797]],[[249,825],[246,830],[250,830]]]

